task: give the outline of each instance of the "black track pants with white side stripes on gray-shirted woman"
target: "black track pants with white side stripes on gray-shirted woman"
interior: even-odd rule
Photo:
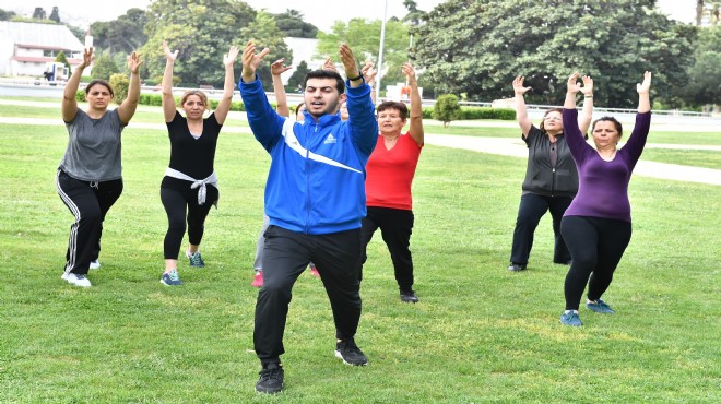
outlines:
[[[91,261],[101,252],[103,221],[122,193],[122,179],[103,182],[81,181],[58,170],[58,194],[75,216],[70,226],[66,272],[86,274]]]

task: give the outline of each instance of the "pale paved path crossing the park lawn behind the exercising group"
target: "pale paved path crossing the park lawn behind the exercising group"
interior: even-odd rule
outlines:
[[[5,104],[7,100],[0,99],[0,105]],[[10,104],[10,103],[7,103]],[[19,105],[19,102],[13,102],[13,104]],[[28,103],[29,104],[29,103]],[[33,104],[51,104],[52,103],[33,103]],[[151,107],[149,107],[151,108]],[[152,107],[153,110],[156,110],[157,107]],[[141,108],[139,108],[141,109]],[[144,108],[142,108],[144,109]],[[232,115],[243,114],[243,112],[233,112]],[[58,111],[58,115],[60,112]],[[63,126],[60,117],[58,119],[37,119],[37,118],[4,118],[0,117],[0,123],[10,123],[10,124],[48,124],[48,126]],[[492,126],[494,122],[488,122]],[[505,122],[499,122],[505,123]],[[509,122],[510,123],[510,122]],[[516,123],[513,123],[516,126]],[[149,122],[130,122],[128,127],[130,129],[153,129],[153,130],[166,130],[166,126],[163,123],[149,123]],[[689,130],[685,128],[685,130]],[[231,133],[251,133],[250,128],[248,127],[224,127],[224,132]],[[490,154],[500,154],[504,156],[511,157],[528,157],[528,148],[525,143],[519,139],[511,138],[483,138],[483,136],[468,136],[468,135],[456,135],[456,134],[433,134],[426,133],[425,140],[427,144],[433,144],[436,146],[444,147],[453,147],[453,148],[464,148],[482,153]],[[709,146],[709,145],[681,145],[681,144],[653,144],[648,143],[646,147],[649,148],[676,148],[676,150],[707,150],[721,152],[721,146]],[[682,166],[678,164],[667,164],[667,163],[657,163],[649,161],[639,161],[634,169],[635,175],[660,178],[660,179],[670,179],[676,181],[686,181],[686,182],[698,182],[698,183],[709,183],[714,186],[721,186],[721,169],[713,168],[701,168],[701,167],[692,167],[692,166]]]

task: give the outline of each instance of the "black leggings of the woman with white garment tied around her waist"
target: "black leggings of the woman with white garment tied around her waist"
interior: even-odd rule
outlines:
[[[163,241],[163,254],[166,260],[177,260],[182,236],[186,234],[186,207],[188,210],[188,242],[198,246],[203,239],[205,230],[205,217],[213,202],[217,200],[217,188],[208,186],[205,203],[198,204],[198,190],[177,190],[173,188],[161,188],[161,201],[168,215],[168,231]]]

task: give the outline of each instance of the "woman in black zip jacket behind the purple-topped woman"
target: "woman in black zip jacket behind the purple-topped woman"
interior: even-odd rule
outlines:
[[[578,191],[576,164],[564,139],[564,123],[560,108],[549,109],[536,128],[529,119],[523,76],[513,80],[516,99],[516,121],[521,127],[522,138],[529,147],[528,167],[523,180],[521,204],[518,209],[513,246],[508,271],[523,271],[529,262],[533,247],[533,234],[541,217],[551,211],[555,248],[553,261],[569,264],[570,253],[560,236],[560,218]],[[586,133],[593,111],[593,94],[584,94],[583,111],[578,126]]]

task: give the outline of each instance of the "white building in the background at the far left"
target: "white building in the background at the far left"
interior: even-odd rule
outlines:
[[[0,75],[43,76],[59,52],[82,62],[83,44],[67,26],[0,21]]]

